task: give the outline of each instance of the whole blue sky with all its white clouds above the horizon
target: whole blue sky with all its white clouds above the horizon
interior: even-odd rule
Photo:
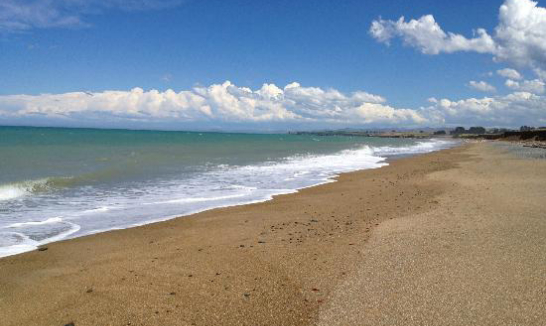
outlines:
[[[546,125],[545,6],[2,0],[0,125]]]

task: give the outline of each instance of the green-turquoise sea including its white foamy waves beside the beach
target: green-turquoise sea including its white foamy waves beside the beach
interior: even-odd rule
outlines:
[[[269,200],[447,140],[0,127],[0,257]]]

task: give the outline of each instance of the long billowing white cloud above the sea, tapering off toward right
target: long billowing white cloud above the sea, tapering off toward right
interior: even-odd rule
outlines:
[[[0,120],[30,117],[69,122],[180,122],[185,126],[260,123],[333,125],[418,125],[427,119],[417,110],[388,106],[379,95],[357,91],[264,84],[258,90],[226,81],[175,92],[166,90],[72,92],[0,96]]]

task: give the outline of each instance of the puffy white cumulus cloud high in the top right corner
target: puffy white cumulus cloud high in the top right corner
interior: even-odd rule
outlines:
[[[533,68],[537,74],[546,70],[546,8],[531,0],[505,0],[492,35],[481,28],[472,37],[445,32],[432,15],[410,21],[378,19],[370,33],[383,43],[399,37],[425,54],[490,53],[497,61]]]

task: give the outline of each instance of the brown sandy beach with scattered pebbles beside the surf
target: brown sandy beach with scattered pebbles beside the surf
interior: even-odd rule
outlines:
[[[470,143],[0,259],[0,325],[544,325],[546,160]]]

